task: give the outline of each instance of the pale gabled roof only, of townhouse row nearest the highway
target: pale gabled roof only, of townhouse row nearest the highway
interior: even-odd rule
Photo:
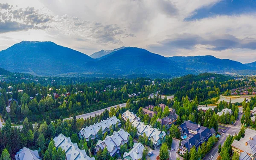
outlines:
[[[79,134],[81,134],[82,137],[88,139],[91,135],[96,136],[100,128],[102,128],[102,131],[104,131],[105,129],[111,128],[112,125],[116,125],[117,122],[121,123],[120,120],[116,118],[116,116],[113,116],[111,118],[98,122],[95,125],[90,125],[89,127],[82,128]]]

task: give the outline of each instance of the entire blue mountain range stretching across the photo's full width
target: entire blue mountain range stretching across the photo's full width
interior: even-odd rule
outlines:
[[[22,41],[0,52],[0,67],[40,76],[155,76],[197,73],[256,74],[256,62],[242,64],[211,55],[164,57],[136,47],[101,50],[88,56],[53,42]]]

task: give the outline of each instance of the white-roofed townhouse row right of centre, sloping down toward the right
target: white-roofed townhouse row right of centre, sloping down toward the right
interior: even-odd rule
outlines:
[[[160,147],[166,138],[166,133],[164,131],[152,128],[150,125],[145,125],[143,122],[134,121],[132,125],[137,128],[138,136],[143,136],[145,133],[148,140],[152,141],[154,148]]]

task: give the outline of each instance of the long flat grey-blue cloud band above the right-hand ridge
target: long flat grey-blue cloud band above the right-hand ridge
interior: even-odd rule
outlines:
[[[207,49],[212,51],[223,51],[226,49],[256,49],[255,38],[239,39],[233,35],[209,35],[205,38],[193,34],[172,35],[159,41],[157,44],[149,45],[153,50],[195,49],[197,45],[210,46]]]

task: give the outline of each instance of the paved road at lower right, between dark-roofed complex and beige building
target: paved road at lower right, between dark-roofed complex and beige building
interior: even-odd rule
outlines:
[[[222,133],[220,140],[214,145],[212,150],[204,157],[203,160],[216,160],[218,157],[218,145],[221,144],[221,146],[224,144],[225,140],[227,139],[228,135],[234,136],[235,134],[238,134],[241,128],[241,117],[243,113],[243,108],[239,108],[239,115],[238,115],[238,120],[234,123],[234,125],[229,125],[229,126],[224,126],[224,125],[219,125],[218,132],[222,133],[221,131],[224,130],[224,133]],[[222,129],[225,128],[225,129]]]

